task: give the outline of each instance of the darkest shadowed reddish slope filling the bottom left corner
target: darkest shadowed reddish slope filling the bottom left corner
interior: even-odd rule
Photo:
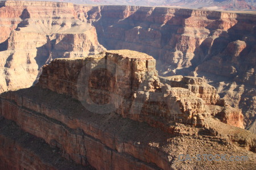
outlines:
[[[94,169],[61,157],[59,148],[0,117],[1,169]]]

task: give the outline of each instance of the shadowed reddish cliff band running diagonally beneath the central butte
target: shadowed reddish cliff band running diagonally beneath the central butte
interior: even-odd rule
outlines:
[[[40,91],[38,91],[39,100],[32,101],[30,95],[26,97],[15,93],[8,94],[4,97],[5,99],[1,100],[1,115],[15,121],[28,133],[43,138],[52,146],[60,148],[65,158],[83,165],[86,165],[86,160],[88,160],[90,165],[96,169],[119,169],[121,167],[124,169],[155,169],[157,167],[154,164],[168,169],[168,158],[164,156],[166,153],[158,152],[158,148],[144,144],[143,146],[134,145],[133,141],[126,141],[123,138],[127,129],[120,130],[118,127],[125,125],[132,130],[135,122],[122,120],[113,114],[93,114],[84,110],[79,102],[67,97],[65,97],[67,100],[63,100],[63,96],[52,94],[50,91],[48,93],[39,88],[31,90]],[[55,96],[52,96],[51,101],[64,102],[65,105],[71,104],[66,110],[68,112],[65,111],[67,108],[61,110],[55,108],[56,104],[49,105],[48,102],[39,104],[40,100],[50,99],[47,93]],[[19,105],[23,109],[19,108]],[[78,112],[73,107],[78,109]],[[108,117],[110,122],[105,121]],[[148,129],[147,127],[145,130],[154,131],[154,128]],[[135,137],[141,138],[138,135]],[[145,157],[144,152],[147,152],[148,156]],[[165,158],[162,159],[163,156],[160,155]]]

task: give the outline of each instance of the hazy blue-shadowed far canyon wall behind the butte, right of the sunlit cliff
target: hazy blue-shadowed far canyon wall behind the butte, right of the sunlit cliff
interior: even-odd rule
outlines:
[[[255,15],[164,7],[76,8],[88,16],[107,49],[150,54],[163,76],[204,76],[226,103],[242,109],[247,125],[255,120]]]

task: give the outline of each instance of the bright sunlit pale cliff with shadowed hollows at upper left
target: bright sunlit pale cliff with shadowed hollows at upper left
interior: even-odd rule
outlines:
[[[0,92],[30,87],[54,58],[104,50],[71,3],[1,1],[0,14]]]

